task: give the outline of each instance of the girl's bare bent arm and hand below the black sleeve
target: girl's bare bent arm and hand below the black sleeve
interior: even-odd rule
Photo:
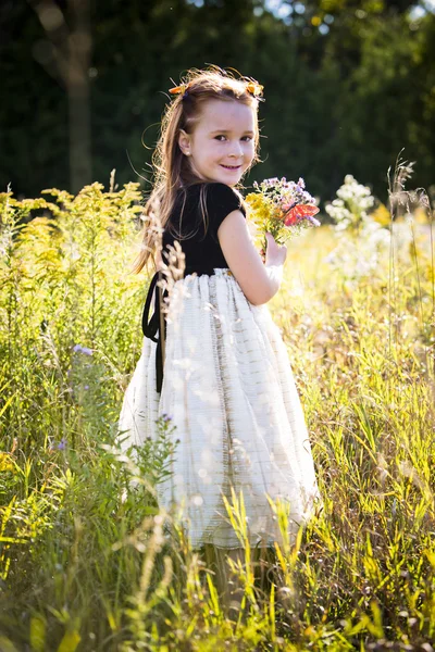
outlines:
[[[225,217],[217,229],[217,238],[228,267],[248,301],[253,305],[268,303],[279,289],[287,248],[277,246],[269,234],[264,265],[240,211],[233,211]]]

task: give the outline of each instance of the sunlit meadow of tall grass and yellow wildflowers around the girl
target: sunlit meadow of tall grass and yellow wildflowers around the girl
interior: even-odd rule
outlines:
[[[171,422],[135,461],[115,442],[149,280],[129,273],[139,186],[0,193],[2,652],[435,649],[432,213],[368,216],[347,188],[336,225],[290,242],[269,304],[323,510],[252,569],[235,497],[235,620],[176,515],[163,528]]]

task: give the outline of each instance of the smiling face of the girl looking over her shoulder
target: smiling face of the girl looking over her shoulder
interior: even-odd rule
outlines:
[[[235,186],[252,163],[256,129],[252,106],[208,100],[192,133],[181,131],[178,145],[198,178]]]

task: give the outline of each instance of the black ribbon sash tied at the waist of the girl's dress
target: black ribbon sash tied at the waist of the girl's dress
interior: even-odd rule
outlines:
[[[214,268],[213,267],[209,267],[207,269],[194,269],[191,267],[186,267],[184,271],[184,277],[188,276],[189,274],[197,274],[198,276],[202,276],[202,274],[207,274],[208,276],[213,276],[214,275]],[[161,280],[163,278],[161,272],[156,272],[154,276],[151,278],[149,288],[148,288],[148,293],[147,293],[147,298],[145,300],[145,306],[144,306],[144,313],[142,313],[142,333],[145,335],[145,337],[148,337],[150,340],[152,340],[153,342],[157,342],[157,349],[156,349],[156,391],[157,392],[161,392],[162,391],[162,385],[163,385],[163,366],[164,366],[164,360],[163,360],[163,341],[166,340],[166,315],[163,311],[163,331],[161,333],[161,328],[160,328],[160,315],[162,312],[162,306],[160,305],[160,292],[159,292],[159,286],[157,285],[159,280]],[[162,297],[162,302],[164,301],[164,299],[169,296],[167,289],[164,288],[161,291],[161,297]],[[150,312],[150,308],[151,308],[151,301],[152,301],[152,297],[154,297],[154,312],[151,315],[151,317],[149,316],[149,312]]]

